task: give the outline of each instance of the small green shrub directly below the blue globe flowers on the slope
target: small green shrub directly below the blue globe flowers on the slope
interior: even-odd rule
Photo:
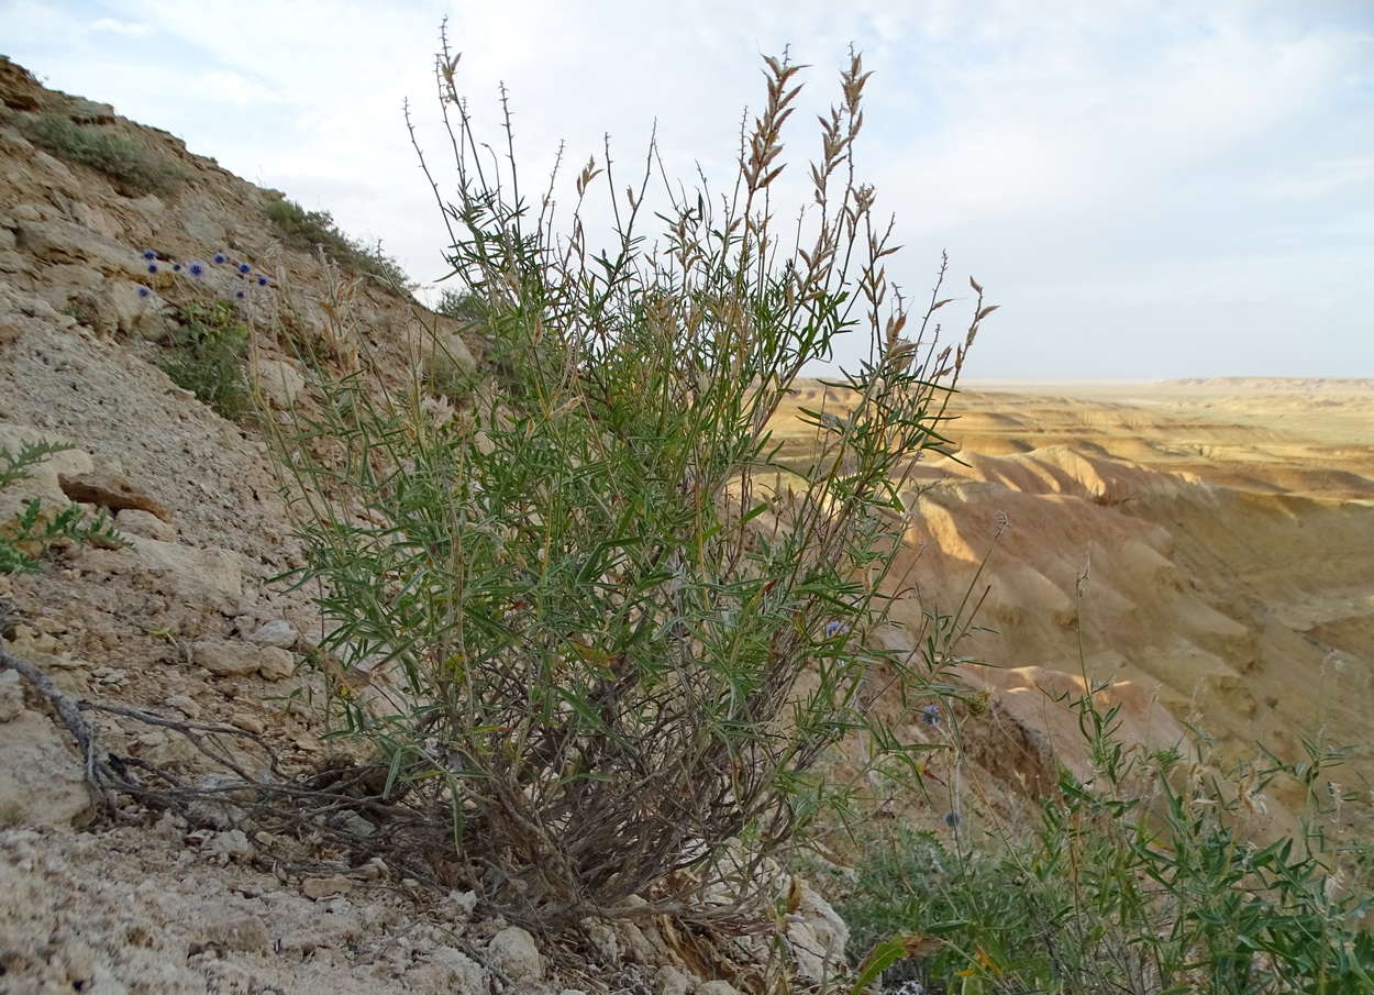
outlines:
[[[232,305],[223,300],[191,301],[177,324],[159,363],[162,371],[223,418],[246,418],[253,411],[245,377],[249,330]]]

